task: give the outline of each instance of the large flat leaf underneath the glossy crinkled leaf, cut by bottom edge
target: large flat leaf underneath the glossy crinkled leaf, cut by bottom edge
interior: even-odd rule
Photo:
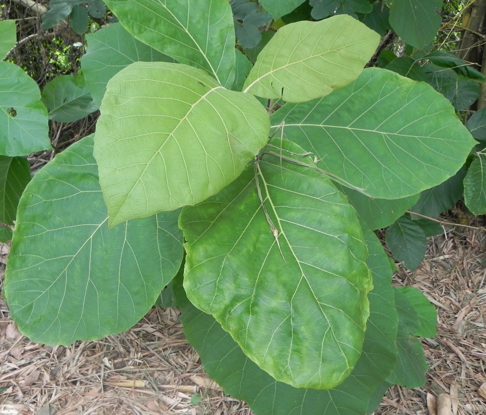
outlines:
[[[176,287],[186,337],[201,356],[209,376],[227,394],[247,401],[257,415],[364,415],[369,397],[390,373],[397,353],[397,312],[390,264],[378,239],[370,231],[364,235],[373,290],[369,293],[370,316],[363,353],[347,379],[331,390],[297,389],[276,381],[243,354],[212,316],[184,298],[182,287]]]

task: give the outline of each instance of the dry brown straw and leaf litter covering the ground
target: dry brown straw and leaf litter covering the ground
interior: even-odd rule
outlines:
[[[7,252],[2,245],[2,262]],[[486,382],[485,252],[486,234],[448,228],[431,239],[415,273],[395,275],[436,305],[438,335],[423,341],[427,385],[392,388],[376,415],[434,414],[440,393],[451,396],[454,415],[486,414],[486,391],[478,392]],[[174,309],[153,309],[125,333],[70,347],[30,343],[5,302],[0,309],[0,414],[251,414],[204,374]]]

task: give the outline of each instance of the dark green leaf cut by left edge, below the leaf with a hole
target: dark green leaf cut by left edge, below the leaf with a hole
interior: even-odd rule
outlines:
[[[25,157],[0,156],[1,223],[14,224],[18,201],[30,179],[30,164]]]

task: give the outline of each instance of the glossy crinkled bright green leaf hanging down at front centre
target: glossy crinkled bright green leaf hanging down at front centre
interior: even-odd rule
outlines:
[[[360,356],[371,288],[366,247],[356,212],[330,180],[280,161],[265,155],[256,173],[249,166],[183,209],[184,287],[277,380],[328,389]]]

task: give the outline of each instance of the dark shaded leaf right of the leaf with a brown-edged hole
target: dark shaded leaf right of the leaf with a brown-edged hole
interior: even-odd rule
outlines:
[[[59,75],[42,90],[49,119],[59,122],[81,120],[98,109],[82,75]]]

